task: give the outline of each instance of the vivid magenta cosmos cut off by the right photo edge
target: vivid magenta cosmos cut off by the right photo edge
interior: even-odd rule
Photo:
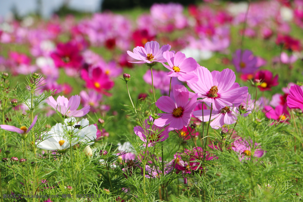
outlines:
[[[289,108],[303,110],[303,90],[300,86],[294,85],[289,89],[289,95],[286,98]]]

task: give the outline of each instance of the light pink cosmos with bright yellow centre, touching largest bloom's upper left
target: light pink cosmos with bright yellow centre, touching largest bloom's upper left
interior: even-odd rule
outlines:
[[[180,81],[190,79],[191,82],[198,81],[198,77],[192,73],[197,69],[197,62],[194,58],[186,58],[184,53],[177,52],[175,54],[171,51],[165,51],[163,57],[167,60],[168,65],[164,63],[162,65],[170,70],[167,76],[178,77]]]

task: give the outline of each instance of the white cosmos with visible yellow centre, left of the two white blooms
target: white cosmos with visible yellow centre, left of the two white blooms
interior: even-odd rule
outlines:
[[[61,123],[56,124],[43,137],[43,141],[36,143],[37,147],[45,150],[67,149],[85,138],[84,132]],[[72,141],[70,142],[70,140]]]

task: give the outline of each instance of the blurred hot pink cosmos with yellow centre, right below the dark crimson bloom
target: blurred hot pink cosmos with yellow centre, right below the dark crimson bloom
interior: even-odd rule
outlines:
[[[92,88],[105,95],[110,95],[105,90],[110,90],[114,86],[114,82],[99,67],[88,68],[88,71],[82,69],[81,77],[86,82],[86,88]]]

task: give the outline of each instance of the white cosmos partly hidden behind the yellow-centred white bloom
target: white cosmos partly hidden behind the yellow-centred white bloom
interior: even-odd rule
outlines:
[[[89,125],[87,118],[83,118],[78,123],[74,117],[66,118],[64,124],[72,125],[72,127],[77,127],[80,131],[84,132],[85,137],[82,142],[93,144],[94,140],[97,138],[97,127],[95,125]]]

